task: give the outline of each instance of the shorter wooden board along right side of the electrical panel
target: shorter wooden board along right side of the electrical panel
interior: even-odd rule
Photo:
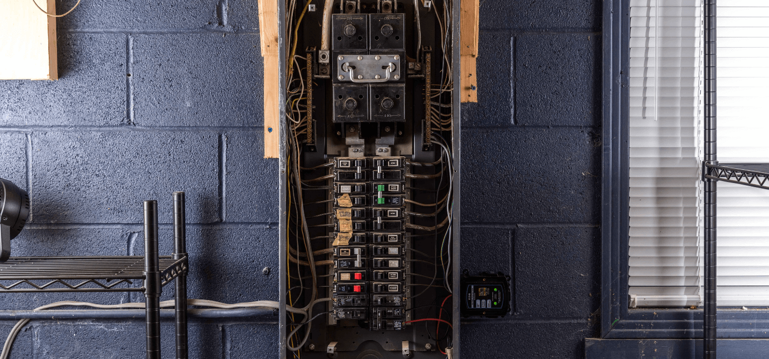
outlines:
[[[478,8],[480,0],[461,0],[459,42],[460,98],[462,102],[478,102],[478,80],[475,58],[478,57]]]

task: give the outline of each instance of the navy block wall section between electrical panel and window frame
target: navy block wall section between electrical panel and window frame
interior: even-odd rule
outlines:
[[[511,274],[514,314],[464,321],[464,357],[581,358],[598,336],[601,12],[598,0],[481,2],[461,267]]]

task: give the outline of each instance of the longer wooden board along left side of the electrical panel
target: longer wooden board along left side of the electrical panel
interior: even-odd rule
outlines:
[[[265,158],[280,155],[280,52],[278,44],[278,0],[258,0],[259,38],[264,59]]]

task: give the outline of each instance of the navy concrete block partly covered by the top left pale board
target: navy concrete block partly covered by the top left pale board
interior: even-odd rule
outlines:
[[[125,45],[122,34],[58,34],[59,79],[0,81],[0,125],[125,122]]]

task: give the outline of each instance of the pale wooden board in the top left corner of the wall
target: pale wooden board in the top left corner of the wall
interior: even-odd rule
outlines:
[[[55,12],[55,0],[38,0]],[[56,18],[32,0],[0,1],[0,80],[55,80]]]

